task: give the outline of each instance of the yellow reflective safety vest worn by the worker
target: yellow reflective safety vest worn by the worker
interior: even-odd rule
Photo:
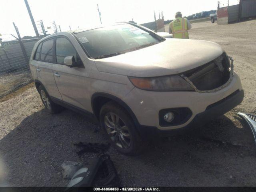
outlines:
[[[172,30],[173,38],[189,39],[187,19],[178,17],[170,22],[169,27]]]

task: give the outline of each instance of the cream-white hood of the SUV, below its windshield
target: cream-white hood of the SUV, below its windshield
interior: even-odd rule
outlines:
[[[134,77],[179,74],[206,64],[223,53],[214,42],[166,39],[125,54],[94,60],[101,72]]]

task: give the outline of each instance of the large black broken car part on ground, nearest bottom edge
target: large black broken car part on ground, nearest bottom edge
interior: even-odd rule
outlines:
[[[119,186],[116,168],[109,155],[103,154],[89,160],[88,165],[79,169],[70,180],[67,191],[74,187]]]

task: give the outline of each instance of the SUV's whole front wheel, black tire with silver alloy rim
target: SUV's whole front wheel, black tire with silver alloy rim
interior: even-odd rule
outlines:
[[[107,102],[102,106],[100,124],[110,142],[120,153],[136,155],[141,152],[144,142],[142,142],[135,124],[128,112],[116,102]]]

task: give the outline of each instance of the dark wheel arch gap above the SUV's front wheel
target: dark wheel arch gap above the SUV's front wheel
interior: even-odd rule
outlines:
[[[138,126],[140,126],[140,124],[138,122],[138,119],[136,118],[134,112],[131,110],[131,108],[124,101],[122,101],[120,98],[118,98],[116,96],[113,96],[113,95],[107,94],[107,93],[102,93],[102,92],[94,93],[92,95],[92,98],[91,98],[92,111],[93,111],[93,114],[96,116],[96,118],[98,120],[100,120],[100,109],[101,109],[101,107],[106,102],[109,102],[109,101],[114,101],[117,104],[119,104],[120,106],[122,106],[124,109],[126,109],[128,114],[130,115],[130,117],[134,121],[136,127],[138,128]]]

